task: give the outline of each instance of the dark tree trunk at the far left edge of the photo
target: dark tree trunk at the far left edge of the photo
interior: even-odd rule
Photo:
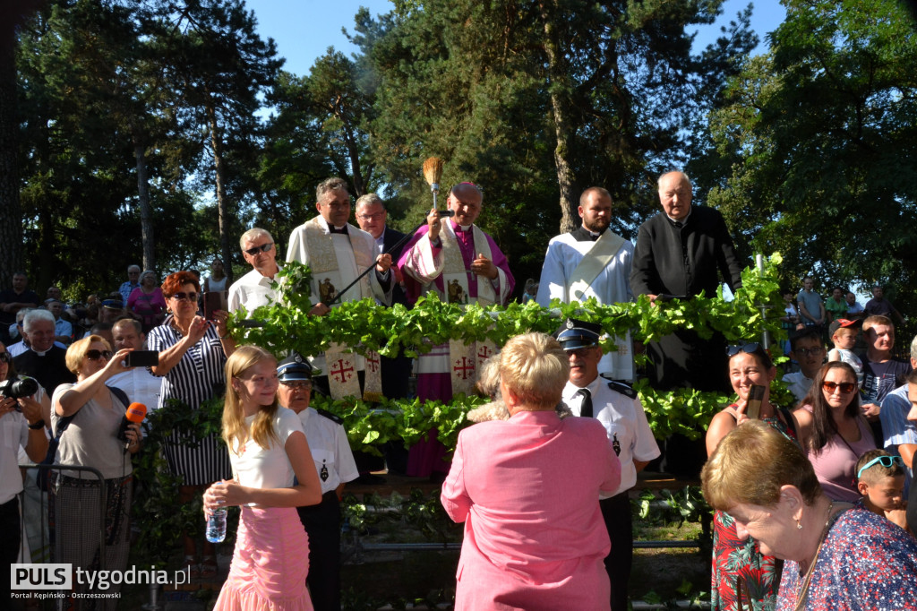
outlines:
[[[6,11],[5,11],[6,13]],[[0,287],[22,266],[17,144],[16,24],[0,19]]]

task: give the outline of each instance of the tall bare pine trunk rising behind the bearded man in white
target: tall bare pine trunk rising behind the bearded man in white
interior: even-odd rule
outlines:
[[[574,192],[574,176],[568,156],[573,144],[573,120],[567,101],[569,83],[563,66],[558,33],[554,20],[548,13],[547,2],[538,5],[541,21],[545,28],[545,55],[551,95],[551,111],[554,117],[554,133],[557,146],[554,148],[554,165],[558,172],[560,191],[560,233],[567,233],[580,226],[579,204]]]

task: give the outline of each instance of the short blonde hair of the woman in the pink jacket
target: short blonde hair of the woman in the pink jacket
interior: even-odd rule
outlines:
[[[531,408],[554,409],[569,371],[567,353],[557,339],[544,333],[518,335],[500,352],[500,377],[506,389]]]

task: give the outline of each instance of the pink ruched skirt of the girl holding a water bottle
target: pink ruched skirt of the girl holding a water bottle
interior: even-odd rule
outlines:
[[[309,539],[295,507],[242,507],[229,576],[214,609],[312,611]]]

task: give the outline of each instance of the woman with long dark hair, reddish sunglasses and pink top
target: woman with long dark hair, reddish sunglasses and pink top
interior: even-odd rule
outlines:
[[[856,461],[875,450],[872,430],[860,410],[856,372],[831,361],[815,376],[812,389],[794,412],[802,449],[808,452],[824,494],[834,501],[856,502]]]

